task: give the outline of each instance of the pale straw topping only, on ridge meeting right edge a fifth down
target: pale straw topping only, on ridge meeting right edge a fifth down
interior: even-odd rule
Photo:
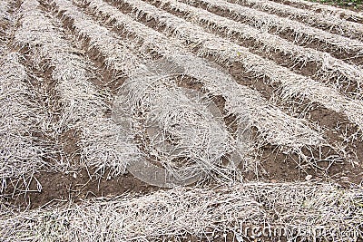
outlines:
[[[299,42],[309,44],[315,40],[323,44],[331,44],[342,52],[357,53],[357,55],[363,54],[363,43],[358,40],[352,40],[338,34],[331,34],[306,24],[301,24],[298,21],[289,20],[288,18],[269,15],[249,7],[231,4],[224,0],[182,0],[182,2],[189,4],[200,2],[208,5],[208,7],[217,7],[243,19],[243,21],[249,24],[253,24],[253,26],[262,31],[268,31],[271,28],[277,29],[276,32],[292,31],[295,34],[295,40]]]

